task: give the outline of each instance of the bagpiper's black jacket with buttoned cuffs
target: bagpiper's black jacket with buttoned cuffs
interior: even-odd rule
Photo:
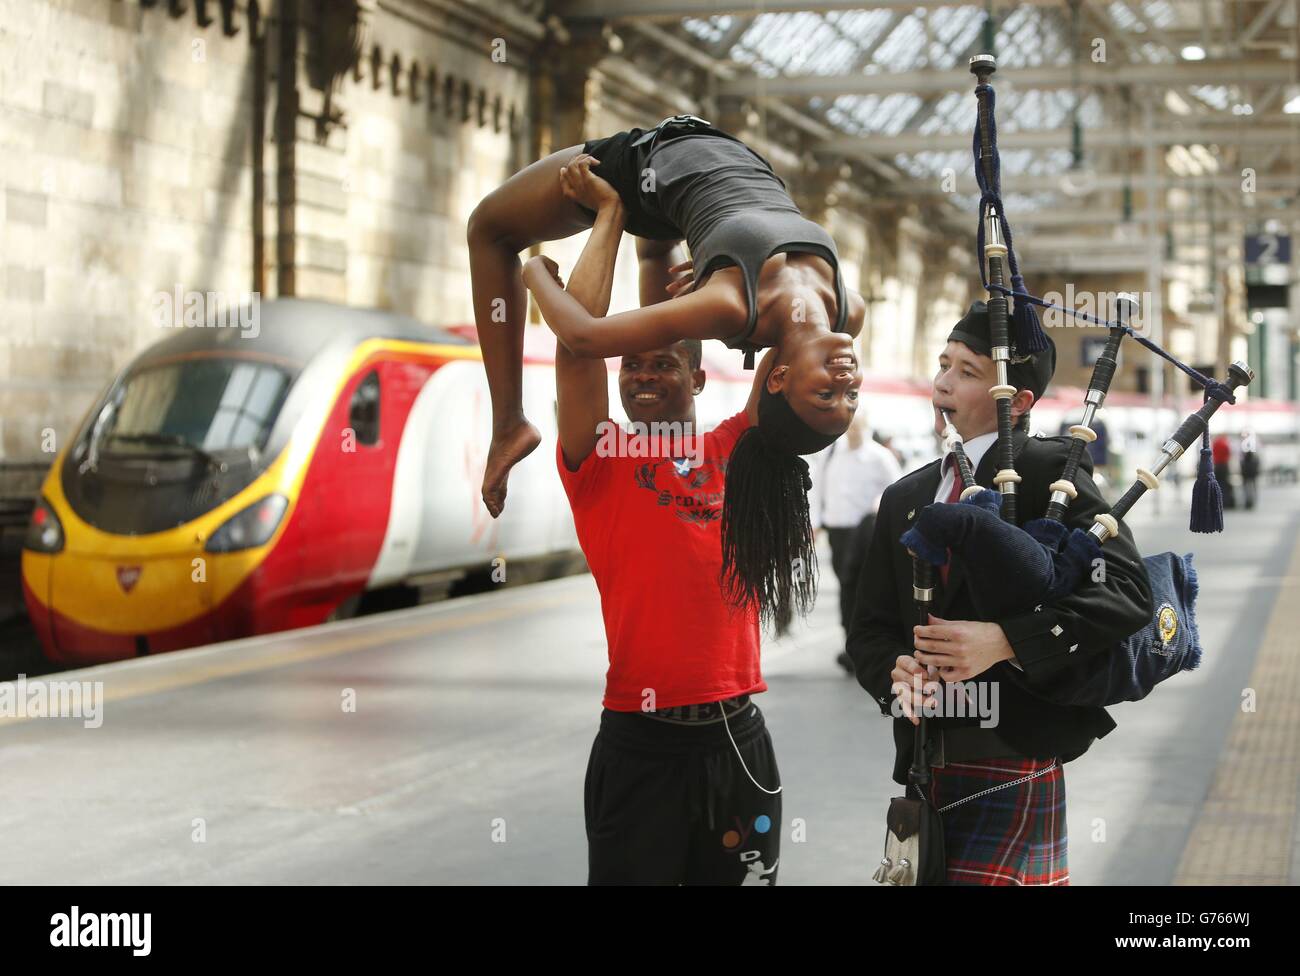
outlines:
[[[1014,433],[1015,469],[1020,474],[1017,516],[1023,525],[1046,511],[1050,493],[1065,467],[1069,437],[1028,437]],[[980,459],[975,481],[993,486],[997,444]],[[876,530],[858,578],[853,626],[848,651],[857,668],[858,682],[871,694],[884,715],[890,715],[893,693],[889,672],[900,655],[911,654],[911,628],[919,623],[911,594],[911,556],[898,537],[910,528],[916,513],[933,503],[941,478],[940,461],[900,478],[880,499]],[[1079,496],[1066,512],[1066,524],[1087,529],[1093,516],[1110,508],[1092,481],[1092,461],[1087,451],[1075,478]],[[1104,581],[1092,576],[1050,606],[1024,607],[1024,612],[994,621],[1002,626],[1015,650],[1023,672],[1010,661],[1000,661],[974,678],[996,681],[998,694],[997,733],[1017,751],[1037,759],[1060,756],[1070,762],[1083,755],[1093,739],[1115,728],[1105,708],[1079,708],[1052,704],[1035,697],[1028,687],[1035,680],[1052,676],[1067,680],[1071,671],[1087,669],[1117,641],[1140,630],[1150,619],[1152,598],[1147,568],[1132,542],[1132,533],[1121,521],[1118,538],[1102,545]],[[948,585],[936,571],[935,616],[945,620],[978,620],[966,582],[966,568],[953,559]],[[1011,581],[1009,585],[1014,585]],[[978,700],[978,699],[976,699]],[[978,725],[978,717],[932,717],[928,728]],[[894,720],[894,781],[907,781],[915,726],[907,719]]]

